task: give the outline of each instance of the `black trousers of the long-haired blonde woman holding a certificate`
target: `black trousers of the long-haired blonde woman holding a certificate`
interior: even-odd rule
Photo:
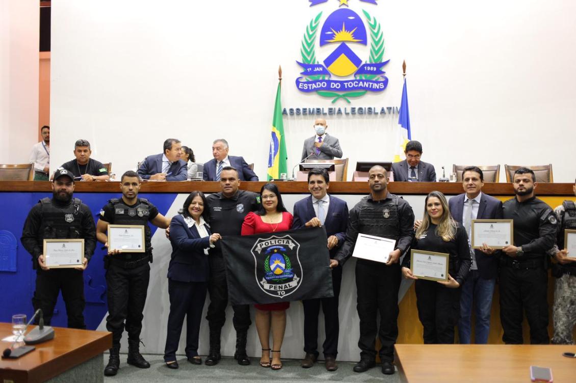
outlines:
[[[453,344],[454,327],[460,318],[460,290],[432,280],[418,279],[416,307],[424,327],[425,344]]]

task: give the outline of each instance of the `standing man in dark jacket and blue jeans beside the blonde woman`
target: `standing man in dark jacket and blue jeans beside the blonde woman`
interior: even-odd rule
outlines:
[[[452,217],[471,234],[472,219],[502,219],[502,201],[482,192],[484,175],[476,166],[468,166],[462,173],[465,193],[448,201]],[[472,242],[472,240],[470,240]],[[498,256],[491,251],[476,249],[472,253],[472,270],[462,286],[458,334],[460,343],[471,343],[472,305],[475,307],[477,344],[488,342],[492,295],[498,276]]]

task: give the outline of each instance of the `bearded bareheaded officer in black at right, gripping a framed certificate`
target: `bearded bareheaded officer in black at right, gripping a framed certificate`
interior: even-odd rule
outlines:
[[[514,172],[516,196],[503,204],[503,218],[514,220],[514,245],[502,249],[500,320],[506,344],[522,344],[522,308],[530,325],[530,343],[548,344],[547,251],[554,246],[558,220],[534,194],[534,172]]]

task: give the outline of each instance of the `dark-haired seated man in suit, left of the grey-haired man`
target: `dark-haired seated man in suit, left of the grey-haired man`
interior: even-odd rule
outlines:
[[[146,157],[138,169],[143,180],[185,181],[188,179],[188,165],[180,160],[182,144],[176,138],[164,141],[164,153]]]

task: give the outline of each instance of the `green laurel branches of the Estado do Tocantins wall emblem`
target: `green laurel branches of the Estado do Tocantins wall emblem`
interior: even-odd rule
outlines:
[[[370,56],[366,63],[377,63],[382,62],[384,58],[384,33],[380,27],[380,22],[376,20],[375,17],[370,16],[368,12],[362,10],[364,16],[366,17],[366,21],[368,22],[368,27],[370,29]],[[300,54],[302,56],[302,62],[305,64],[317,64],[318,60],[316,60],[316,32],[318,31],[318,27],[320,26],[320,17],[322,16],[322,12],[317,14],[310,23],[306,26],[306,32],[304,33],[304,37],[302,38],[302,48],[300,48]],[[313,81],[318,79],[324,79],[325,75],[313,75],[313,76],[306,76],[306,81]],[[374,74],[362,74],[359,75],[361,79],[379,79],[381,75],[374,75]],[[325,90],[317,90],[316,93],[322,97],[335,97],[332,100],[332,104],[334,104],[339,98],[345,100],[348,104],[350,104],[349,97],[360,97],[366,94],[367,90],[358,90],[355,92],[347,92],[347,93],[336,93],[336,92],[327,92]]]

